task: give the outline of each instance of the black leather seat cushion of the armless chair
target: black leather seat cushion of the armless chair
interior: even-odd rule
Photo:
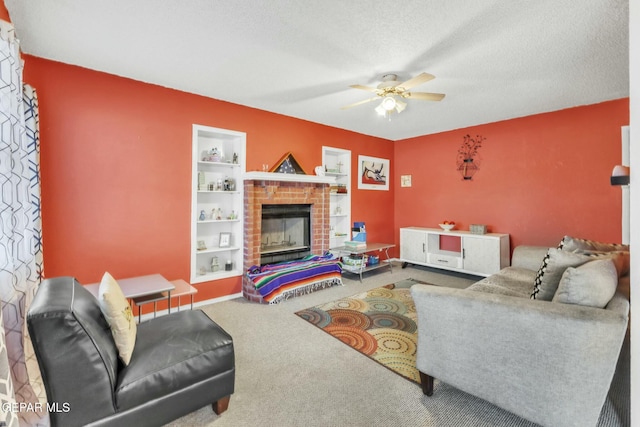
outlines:
[[[138,328],[131,362],[116,384],[119,412],[225,374],[233,392],[233,340],[202,310],[171,313]]]

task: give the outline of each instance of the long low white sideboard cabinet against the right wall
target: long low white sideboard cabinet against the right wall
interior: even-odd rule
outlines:
[[[489,276],[510,264],[509,235],[473,234],[437,228],[400,229],[400,261],[476,276]]]

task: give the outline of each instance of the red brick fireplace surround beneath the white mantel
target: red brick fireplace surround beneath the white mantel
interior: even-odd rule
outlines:
[[[276,175],[276,174],[271,174]],[[303,175],[302,177],[307,177]],[[262,205],[310,204],[311,253],[329,250],[329,184],[323,182],[245,179],[244,181],[244,271],[260,265]],[[243,276],[242,295],[249,301],[264,303],[262,296]]]

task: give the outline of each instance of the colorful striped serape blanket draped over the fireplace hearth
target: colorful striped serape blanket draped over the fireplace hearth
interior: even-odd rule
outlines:
[[[300,260],[254,265],[247,276],[262,298],[276,304],[334,285],[342,285],[342,266],[332,254],[308,255]]]

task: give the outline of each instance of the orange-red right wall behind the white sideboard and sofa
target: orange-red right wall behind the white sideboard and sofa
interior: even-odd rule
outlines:
[[[629,99],[395,142],[395,224],[457,229],[487,224],[511,247],[557,245],[565,234],[619,242],[621,190],[609,184],[621,161]],[[463,136],[486,138],[471,181],[456,170]],[[400,187],[412,175],[412,187]]]

